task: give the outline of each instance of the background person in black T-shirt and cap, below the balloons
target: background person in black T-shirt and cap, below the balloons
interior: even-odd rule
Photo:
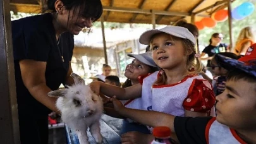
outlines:
[[[229,52],[228,45],[221,43],[223,40],[223,35],[221,33],[213,33],[212,37],[209,40],[209,45],[204,48],[200,56],[200,60],[207,60],[207,69],[210,70],[210,60],[214,54],[220,52]],[[208,57],[205,57],[205,54],[208,54]]]

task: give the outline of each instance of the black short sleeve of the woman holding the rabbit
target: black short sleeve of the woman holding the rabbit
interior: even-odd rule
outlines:
[[[28,27],[27,25],[14,25],[13,51],[15,60],[47,61],[51,51],[49,38],[50,36],[44,30],[35,30],[34,27]]]

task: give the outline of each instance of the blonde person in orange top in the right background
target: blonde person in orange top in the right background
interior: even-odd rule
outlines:
[[[247,52],[248,47],[254,43],[254,35],[252,32],[251,27],[245,27],[240,31],[240,34],[238,36],[238,39],[236,40],[235,48],[233,49],[233,52],[240,56],[245,55],[245,52]]]

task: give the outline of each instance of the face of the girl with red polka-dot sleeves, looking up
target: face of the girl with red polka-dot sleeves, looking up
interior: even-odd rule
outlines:
[[[166,33],[160,33],[152,39],[152,58],[162,69],[186,66],[183,42],[180,39],[172,39],[171,35]]]

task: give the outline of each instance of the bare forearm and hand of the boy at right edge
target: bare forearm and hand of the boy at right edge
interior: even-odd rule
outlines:
[[[145,124],[147,126],[168,126],[174,133],[174,117],[170,114],[156,111],[143,111],[138,109],[126,108],[116,97],[111,99],[114,104],[114,109],[121,116],[137,121],[138,123]]]

